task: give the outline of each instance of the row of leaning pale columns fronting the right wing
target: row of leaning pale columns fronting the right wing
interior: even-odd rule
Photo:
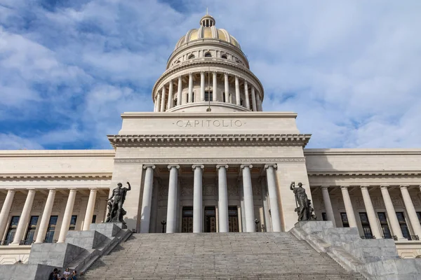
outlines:
[[[326,217],[328,221],[332,221],[333,225],[335,225],[335,217],[333,214],[333,207],[332,203],[330,202],[330,195],[328,192],[329,186],[321,186],[321,192],[323,195],[323,202],[325,205],[326,210]],[[342,198],[345,205],[345,212],[347,214],[349,227],[356,228],[356,218],[354,214],[354,207],[352,207],[351,198],[349,197],[349,186],[341,186]],[[375,209],[373,207],[373,203],[370,199],[370,193],[368,192],[368,186],[360,186],[361,195],[363,197],[364,207],[366,208],[368,222],[370,223],[370,230],[373,233],[375,238],[382,238],[383,233],[382,229],[380,228],[379,223],[377,223],[377,217],[375,213]],[[408,186],[400,186],[401,195],[403,198],[403,203],[405,204],[406,211],[408,213],[408,218],[410,224],[413,228],[413,232],[418,237],[421,237],[421,225],[420,221],[417,217],[417,212],[415,211],[414,204],[410,198],[408,193]],[[421,190],[421,188],[420,188]],[[394,209],[394,205],[392,203],[392,199],[389,195],[389,186],[380,186],[380,191],[382,193],[383,202],[385,203],[385,209],[387,212],[387,216],[389,218],[390,227],[392,228],[393,234],[396,238],[405,239],[402,234],[401,226],[399,225],[398,218],[396,216],[396,211]]]

